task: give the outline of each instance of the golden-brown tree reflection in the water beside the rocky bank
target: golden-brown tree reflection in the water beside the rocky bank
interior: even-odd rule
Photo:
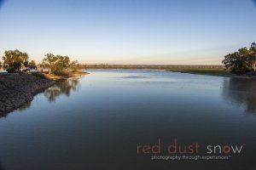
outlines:
[[[56,82],[54,86],[44,91],[44,96],[53,102],[62,94],[68,97],[72,91],[77,90],[79,90],[79,78],[70,78]]]

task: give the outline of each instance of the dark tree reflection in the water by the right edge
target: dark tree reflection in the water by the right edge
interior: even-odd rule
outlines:
[[[246,112],[256,115],[256,81],[250,79],[224,79],[224,99],[235,105],[245,105]]]

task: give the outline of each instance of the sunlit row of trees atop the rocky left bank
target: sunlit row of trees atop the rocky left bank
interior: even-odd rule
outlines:
[[[0,62],[0,68],[8,72],[20,72],[37,70],[38,66],[48,69],[49,74],[61,74],[69,69],[77,71],[79,62],[77,60],[70,62],[68,56],[45,54],[45,58],[41,64],[36,64],[34,60],[29,61],[29,56],[25,52],[20,52],[18,49],[8,50],[4,52],[3,64]]]

